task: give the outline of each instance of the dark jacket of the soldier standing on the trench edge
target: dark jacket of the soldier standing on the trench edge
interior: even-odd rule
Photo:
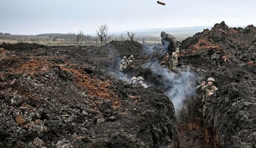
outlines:
[[[175,52],[177,40],[172,35],[166,33],[166,38],[162,38],[161,42],[168,52]]]

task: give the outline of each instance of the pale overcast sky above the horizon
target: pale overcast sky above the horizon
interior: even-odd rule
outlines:
[[[0,32],[95,33],[149,28],[256,24],[256,0],[2,0]]]

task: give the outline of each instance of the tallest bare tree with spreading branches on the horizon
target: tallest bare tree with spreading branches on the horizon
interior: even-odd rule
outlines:
[[[96,30],[97,36],[100,39],[100,44],[104,42],[105,44],[109,39],[114,35],[109,35],[109,26],[107,24],[102,24],[101,26],[98,27],[98,30]]]

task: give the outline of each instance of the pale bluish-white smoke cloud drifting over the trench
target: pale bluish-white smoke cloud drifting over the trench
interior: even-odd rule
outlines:
[[[175,112],[183,106],[184,100],[188,96],[195,94],[195,75],[191,71],[183,71],[179,74],[172,71],[167,71],[162,68],[158,62],[149,62],[142,65],[145,68],[150,68],[155,77],[159,78],[160,87],[174,104]]]

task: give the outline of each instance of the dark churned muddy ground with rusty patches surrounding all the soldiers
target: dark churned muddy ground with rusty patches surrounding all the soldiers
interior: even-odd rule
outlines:
[[[2,44],[0,147],[255,148],[255,43],[252,25],[215,24],[182,42],[178,73],[161,45]],[[208,77],[218,92],[203,118],[195,87]]]

